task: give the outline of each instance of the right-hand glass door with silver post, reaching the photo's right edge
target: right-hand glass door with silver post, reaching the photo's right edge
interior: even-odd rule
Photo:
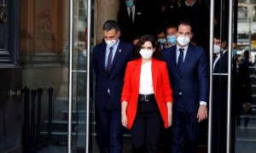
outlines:
[[[220,0],[211,4],[214,13],[211,12],[212,104],[208,152],[255,152],[256,2]],[[214,53],[216,45],[221,48],[218,53]]]

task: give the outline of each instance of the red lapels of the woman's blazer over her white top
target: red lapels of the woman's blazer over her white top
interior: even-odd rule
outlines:
[[[153,81],[153,87],[154,87],[154,94],[156,94],[156,87],[157,87],[157,77],[158,77],[158,60],[152,58],[152,65],[151,65],[151,71],[152,71],[152,81]],[[141,67],[143,63],[143,59],[136,59],[135,60],[136,64],[134,66],[134,74],[136,76],[136,84],[137,88],[140,87],[140,77],[141,77]],[[138,91],[137,91],[138,92]]]

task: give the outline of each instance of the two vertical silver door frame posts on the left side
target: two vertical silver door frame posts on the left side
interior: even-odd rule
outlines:
[[[69,9],[69,69],[68,69],[68,128],[67,128],[67,152],[72,152],[72,102],[73,102],[73,8],[74,2],[70,0]],[[86,70],[86,111],[85,111],[85,152],[89,152],[89,128],[90,128],[90,31],[91,31],[91,0],[87,0],[87,70]]]

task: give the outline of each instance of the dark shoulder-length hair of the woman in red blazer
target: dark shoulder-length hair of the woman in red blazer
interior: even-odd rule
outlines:
[[[142,55],[139,53],[139,51],[141,50],[143,44],[145,42],[151,42],[153,48],[155,48],[154,50],[154,54],[153,54],[153,58],[154,59],[161,59],[161,48],[158,44],[158,42],[156,42],[156,40],[154,39],[154,37],[152,37],[151,35],[144,35],[143,37],[141,37],[139,39],[139,41],[137,42],[137,44],[135,45],[134,48],[134,59],[139,59],[142,57]]]

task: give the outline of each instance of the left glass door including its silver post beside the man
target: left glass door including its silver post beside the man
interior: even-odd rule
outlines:
[[[73,2],[73,55],[69,54],[70,82],[69,91],[72,99],[72,107],[69,108],[69,126],[71,127],[71,150],[72,152],[89,151],[89,116],[90,113],[90,48],[94,46],[90,32],[93,31],[94,1],[75,0]],[[71,10],[72,11],[72,10]],[[71,26],[70,26],[71,27]],[[92,36],[92,35],[91,35]],[[72,57],[71,57],[72,56]],[[72,65],[72,66],[71,66]],[[72,89],[71,89],[72,88]],[[69,101],[70,102],[70,101]]]

